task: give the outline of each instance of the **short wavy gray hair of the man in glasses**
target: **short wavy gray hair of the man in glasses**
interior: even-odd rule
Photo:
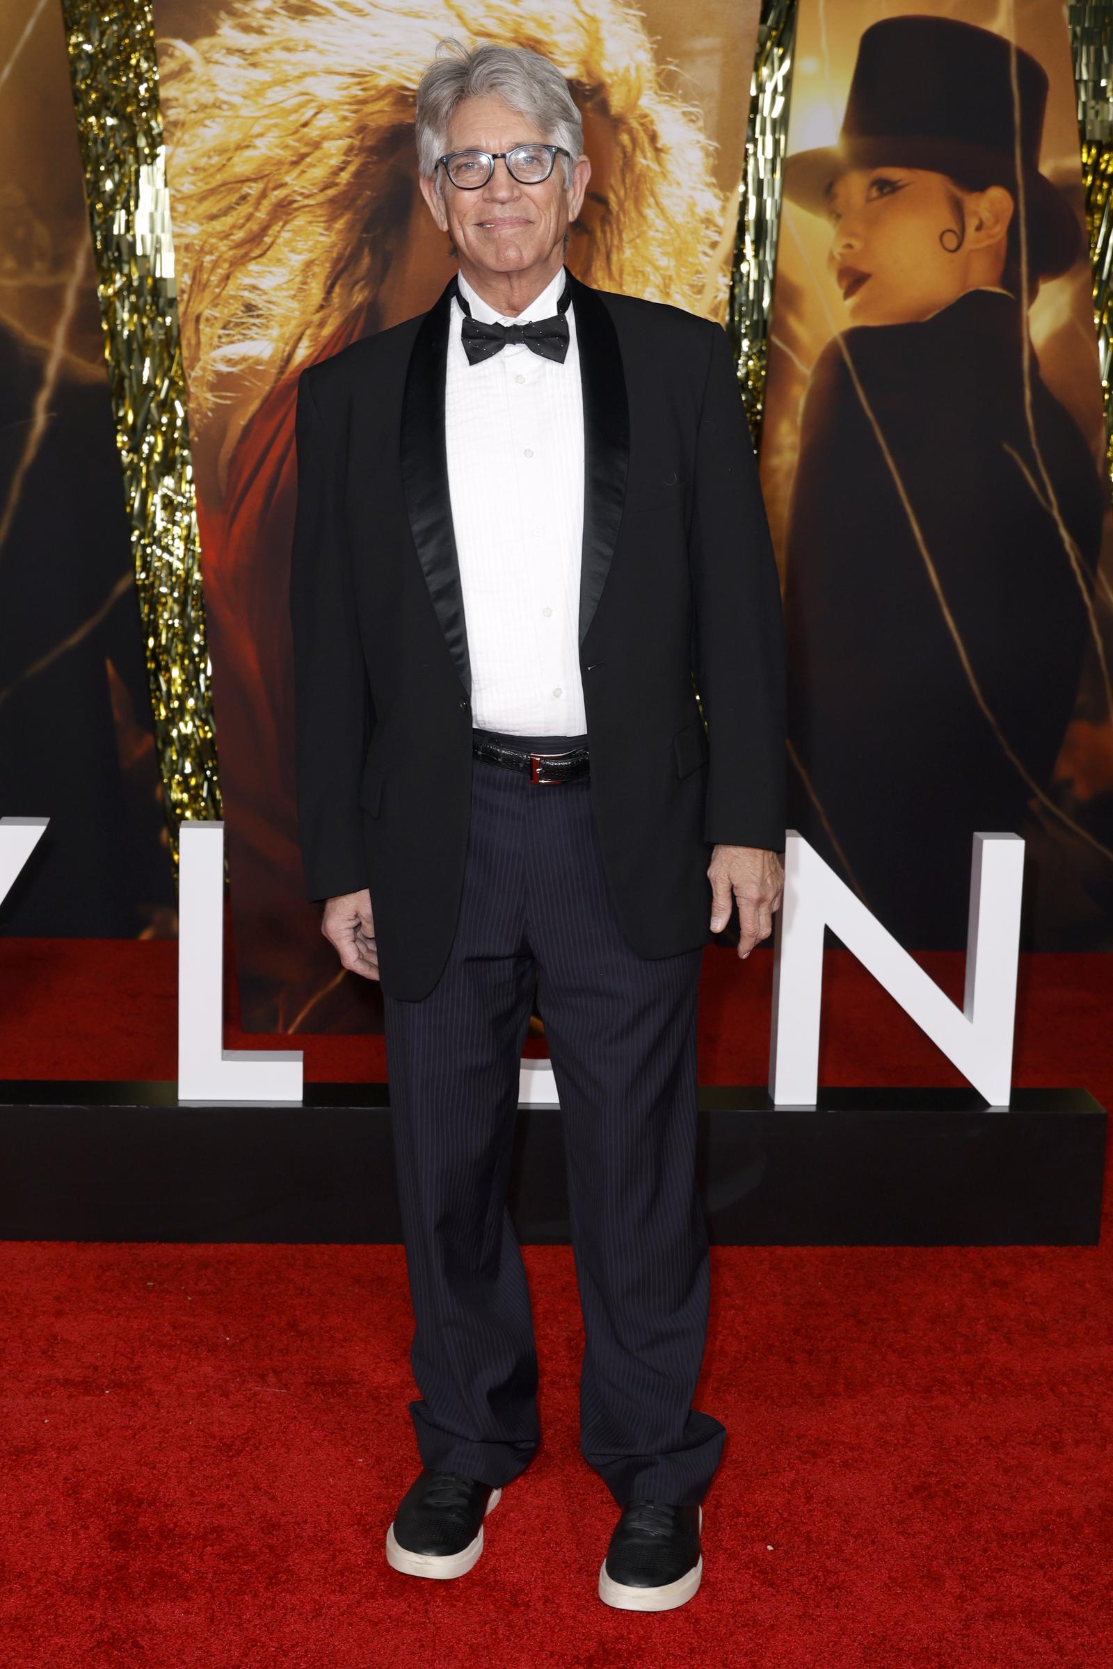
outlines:
[[[442,55],[441,48],[447,48]],[[584,149],[584,124],[556,63],[527,47],[494,47],[484,42],[471,52],[459,40],[437,42],[437,57],[417,83],[417,167],[437,182],[441,192],[442,157],[449,144],[449,122],[466,98],[494,95],[524,115],[547,135],[551,145],[569,152],[561,157],[566,189],[572,184],[572,164]]]

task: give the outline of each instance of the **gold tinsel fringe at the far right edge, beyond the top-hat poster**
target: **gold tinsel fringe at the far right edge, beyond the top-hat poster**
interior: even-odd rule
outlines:
[[[1113,3],[1071,0],[1066,22],[1075,53],[1078,137],[1093,269],[1093,322],[1098,330],[1105,399],[1106,464],[1113,474],[1113,399],[1110,396],[1110,325],[1113,324]]]

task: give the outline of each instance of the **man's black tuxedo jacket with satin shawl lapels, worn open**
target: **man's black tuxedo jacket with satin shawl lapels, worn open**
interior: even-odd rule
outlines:
[[[622,931],[642,956],[667,956],[711,938],[714,843],[784,846],[779,586],[723,329],[569,282],[592,806]],[[451,285],[427,314],[307,367],[297,389],[305,890],[370,888],[382,988],[409,1000],[436,985],[452,945],[471,816],[449,322]]]

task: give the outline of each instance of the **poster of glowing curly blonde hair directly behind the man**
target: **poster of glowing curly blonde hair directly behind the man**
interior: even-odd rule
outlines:
[[[302,367],[426,310],[454,270],[417,190],[437,42],[531,47],[584,115],[586,282],[723,319],[758,3],[155,0],[240,1008],[380,1030],[304,896],[287,576]]]

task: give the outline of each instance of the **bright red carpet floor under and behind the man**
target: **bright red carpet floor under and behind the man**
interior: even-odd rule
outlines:
[[[0,1073],[174,1077],[172,950],[0,941]],[[1025,965],[1018,1083],[1113,1105],[1110,961]],[[708,953],[706,1082],[761,1082],[768,973]],[[380,1075],[375,1040],[304,1046]],[[823,1077],[956,1082],[844,956]],[[542,1449],[476,1571],[424,1584],[382,1559],[415,1469],[400,1248],[0,1245],[0,1664],[1108,1669],[1110,1243],[1106,1210],[1095,1248],[718,1248],[698,1402],[731,1435],[704,1586],[659,1617],[594,1594],[567,1248],[526,1248]]]

